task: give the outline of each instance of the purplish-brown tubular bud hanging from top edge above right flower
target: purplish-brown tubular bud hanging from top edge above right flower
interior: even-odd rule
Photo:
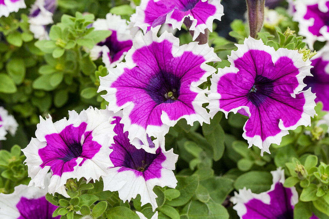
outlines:
[[[246,0],[248,9],[248,20],[250,36],[257,37],[264,23],[265,0]]]

